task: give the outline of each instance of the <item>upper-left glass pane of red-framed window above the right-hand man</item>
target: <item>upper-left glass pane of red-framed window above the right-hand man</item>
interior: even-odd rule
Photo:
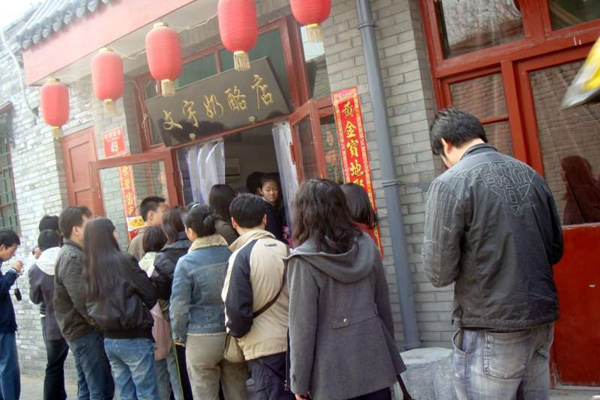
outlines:
[[[523,38],[516,0],[438,0],[435,4],[445,58]]]

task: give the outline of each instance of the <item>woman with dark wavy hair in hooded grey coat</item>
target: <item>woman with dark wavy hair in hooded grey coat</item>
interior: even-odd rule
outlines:
[[[405,370],[373,240],[351,221],[338,184],[309,180],[294,205],[288,262],[290,383],[296,398],[390,400]]]

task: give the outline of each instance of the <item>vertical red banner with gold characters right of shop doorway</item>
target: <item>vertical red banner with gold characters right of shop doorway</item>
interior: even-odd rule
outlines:
[[[369,195],[373,210],[377,212],[358,88],[340,90],[333,93],[331,98],[335,110],[340,152],[342,153],[344,182],[362,186]],[[375,228],[375,238],[383,256],[383,245],[378,227]]]

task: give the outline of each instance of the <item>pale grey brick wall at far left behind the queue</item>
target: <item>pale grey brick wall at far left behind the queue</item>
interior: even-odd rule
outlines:
[[[18,31],[19,24],[9,28],[8,39]],[[12,50],[17,51],[12,45]],[[19,56],[20,58],[20,56]],[[19,83],[19,74],[8,52],[0,47],[0,103],[13,104],[13,144],[11,146],[15,194],[19,213],[21,247],[17,256],[28,258],[37,243],[38,223],[45,214],[57,215],[67,205],[67,188],[60,143],[55,141],[41,117],[34,118],[28,111]],[[39,88],[25,91],[32,108],[39,107]],[[81,81],[70,86],[71,118],[64,126],[65,134],[91,125],[90,84]],[[8,265],[8,264],[7,264]],[[43,374],[46,349],[42,340],[39,309],[29,301],[29,284],[26,275],[18,279],[23,300],[13,298],[19,331],[17,345],[24,373]],[[67,359],[67,374],[74,376],[72,357]]]

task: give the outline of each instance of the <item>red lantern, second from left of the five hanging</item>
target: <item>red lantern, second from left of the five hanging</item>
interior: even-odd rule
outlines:
[[[110,49],[103,48],[92,58],[92,85],[96,97],[104,102],[104,113],[117,113],[116,101],[123,95],[125,85],[123,61]]]

